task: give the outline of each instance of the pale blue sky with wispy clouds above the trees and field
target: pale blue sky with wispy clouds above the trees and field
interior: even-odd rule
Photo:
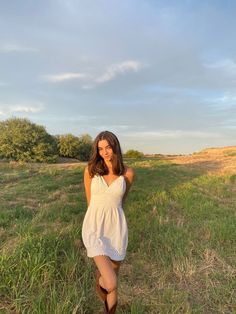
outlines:
[[[236,2],[0,0],[0,120],[122,151],[236,145]]]

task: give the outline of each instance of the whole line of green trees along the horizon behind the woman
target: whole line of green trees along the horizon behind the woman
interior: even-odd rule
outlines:
[[[51,135],[44,126],[26,118],[0,121],[0,158],[24,162],[55,162],[58,157],[89,160],[92,150],[89,134]],[[125,157],[141,158],[143,153],[128,150]]]

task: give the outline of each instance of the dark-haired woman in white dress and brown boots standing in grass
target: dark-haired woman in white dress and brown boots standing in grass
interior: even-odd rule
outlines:
[[[97,266],[96,291],[104,302],[104,313],[115,313],[117,307],[118,272],[128,245],[122,207],[133,179],[134,171],[124,165],[116,135],[99,133],[84,171],[88,209],[82,238]]]

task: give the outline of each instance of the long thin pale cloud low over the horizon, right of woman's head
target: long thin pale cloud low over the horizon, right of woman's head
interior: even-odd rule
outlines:
[[[184,139],[184,138],[219,138],[219,133],[201,132],[201,131],[184,131],[184,130],[162,130],[162,131],[140,131],[129,132],[127,137],[140,139]]]

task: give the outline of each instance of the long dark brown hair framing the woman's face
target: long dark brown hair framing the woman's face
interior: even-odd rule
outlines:
[[[92,152],[88,161],[88,171],[91,177],[95,174],[105,175],[109,173],[109,169],[106,166],[104,159],[100,156],[98,151],[98,142],[101,140],[107,140],[113,151],[112,158],[112,170],[116,175],[122,175],[125,172],[125,166],[123,163],[122,151],[120,148],[120,142],[116,135],[110,131],[100,132],[93,141]]]

